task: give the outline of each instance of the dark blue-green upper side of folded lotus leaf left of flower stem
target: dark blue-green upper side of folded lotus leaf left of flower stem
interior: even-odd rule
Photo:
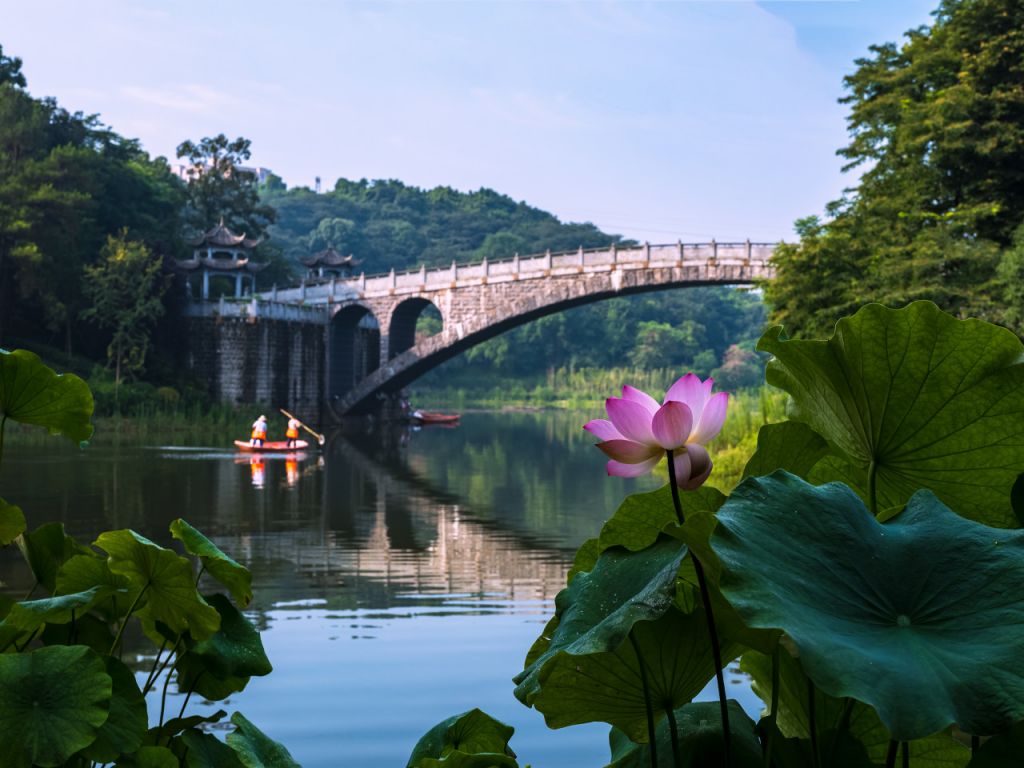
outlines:
[[[556,653],[585,655],[614,650],[637,622],[660,616],[675,597],[676,573],[686,547],[664,538],[640,552],[612,547],[589,572],[578,573],[555,597],[558,626],[544,653],[515,677],[515,695],[529,707],[540,674]]]

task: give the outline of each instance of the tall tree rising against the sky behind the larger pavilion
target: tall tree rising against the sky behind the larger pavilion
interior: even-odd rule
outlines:
[[[183,141],[177,156],[188,162],[188,197],[185,223],[208,229],[220,219],[236,231],[257,239],[267,233],[276,218],[274,209],[260,202],[256,177],[240,166],[249,160],[251,142],[230,140],[223,133],[200,141]]]

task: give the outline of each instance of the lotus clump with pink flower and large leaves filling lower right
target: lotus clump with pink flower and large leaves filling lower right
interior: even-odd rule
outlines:
[[[552,728],[609,724],[608,768],[1016,765],[1024,345],[921,301],[759,346],[791,419],[761,428],[728,497],[680,492],[692,479],[670,471],[623,502],[577,553],[516,697]],[[640,443],[671,467],[667,444],[703,439],[705,416],[685,438],[700,410],[687,378],[664,404],[624,388],[588,424],[616,473],[650,464]],[[759,722],[725,700],[737,657]],[[693,701],[715,678],[719,701]],[[511,736],[471,711],[408,765],[515,768]]]

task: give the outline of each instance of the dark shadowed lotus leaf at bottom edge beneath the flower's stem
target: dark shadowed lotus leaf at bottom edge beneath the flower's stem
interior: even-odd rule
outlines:
[[[737,701],[729,699],[729,743],[732,768],[761,768],[761,742],[754,721]],[[709,768],[725,765],[722,744],[722,711],[718,701],[694,701],[675,711],[679,761],[672,750],[669,721],[662,720],[654,730],[657,740],[658,768]],[[609,736],[611,762],[606,768],[650,768],[650,744],[637,743],[624,731],[612,729]]]

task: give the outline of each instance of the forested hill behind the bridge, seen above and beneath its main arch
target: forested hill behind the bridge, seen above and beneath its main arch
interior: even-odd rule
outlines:
[[[271,242],[286,260],[296,263],[334,247],[353,254],[367,274],[627,242],[590,223],[563,223],[490,189],[339,179],[333,190],[317,195],[286,189],[271,177],[262,199],[276,211]],[[510,377],[537,380],[557,369],[636,367],[714,373],[729,386],[758,384],[753,345],[763,324],[760,296],[727,288],[612,299],[507,333],[453,360],[433,379],[474,389]],[[438,328],[436,319],[421,324],[423,332]]]

